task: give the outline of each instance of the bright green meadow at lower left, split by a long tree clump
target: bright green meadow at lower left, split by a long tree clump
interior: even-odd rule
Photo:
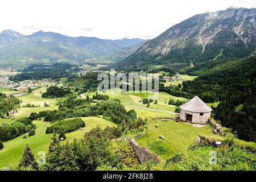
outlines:
[[[72,142],[74,138],[82,138],[87,131],[90,131],[96,126],[102,128],[105,128],[107,126],[116,126],[115,123],[106,121],[102,118],[86,117],[82,119],[83,121],[85,121],[86,126],[81,131],[77,130],[66,134],[67,140],[69,142]],[[19,160],[21,159],[22,152],[26,144],[29,144],[32,151],[34,152],[34,155],[37,158],[40,156],[38,154],[41,154],[40,151],[48,151],[49,143],[51,141],[51,137],[53,134],[45,134],[45,131],[46,127],[50,126],[51,124],[49,122],[43,121],[34,121],[33,123],[37,125],[37,129],[35,130],[34,136],[23,139],[23,135],[21,135],[13,140],[4,142],[5,147],[3,148],[3,150],[0,151],[0,166],[17,166]]]

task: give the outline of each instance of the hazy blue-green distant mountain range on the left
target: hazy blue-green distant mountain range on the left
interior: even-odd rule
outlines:
[[[73,38],[43,31],[25,36],[13,30],[4,30],[0,34],[0,65],[19,67],[62,61],[73,64],[85,63],[90,59],[109,56],[126,47],[135,46],[137,49],[141,46],[139,43],[143,41],[143,39],[107,40],[83,36]],[[136,47],[137,44],[139,45]],[[128,55],[134,51],[134,49],[128,51]],[[107,61],[113,60],[108,58]]]

